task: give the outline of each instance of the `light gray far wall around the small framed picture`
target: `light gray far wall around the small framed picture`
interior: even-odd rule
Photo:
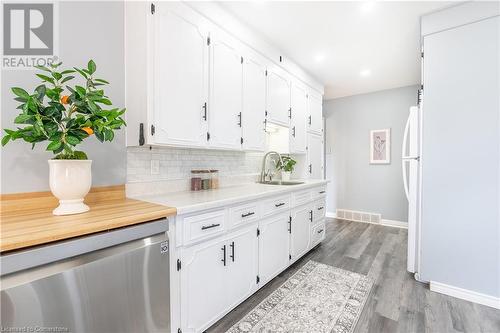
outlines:
[[[406,222],[408,203],[401,174],[401,145],[417,86],[328,100],[326,177],[328,212],[351,209]],[[370,130],[391,129],[391,163],[370,164]]]

